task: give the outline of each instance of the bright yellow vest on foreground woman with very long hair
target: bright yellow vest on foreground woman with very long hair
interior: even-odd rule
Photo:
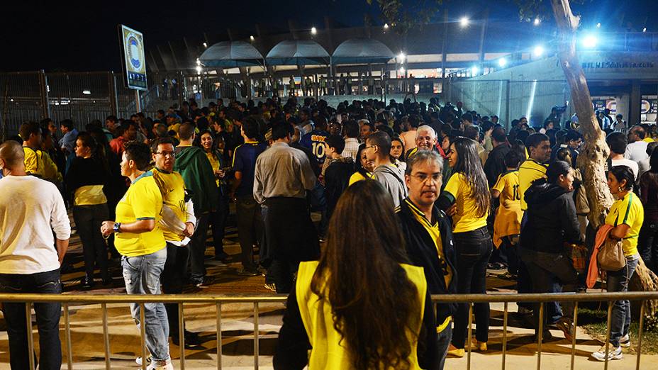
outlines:
[[[409,325],[404,330],[411,342],[411,352],[408,361],[410,370],[420,369],[418,365],[418,335],[425,315],[425,293],[427,281],[422,267],[401,264],[406,271],[407,278],[416,286],[417,296],[413,302],[415,310],[410,318]],[[311,342],[311,351],[308,355],[308,369],[342,370],[351,369],[350,353],[345,348],[342,335],[335,330],[331,304],[321,300],[311,291],[311,279],[318,268],[318,261],[301,262],[297,271],[295,292],[297,305],[301,314],[301,321]]]

